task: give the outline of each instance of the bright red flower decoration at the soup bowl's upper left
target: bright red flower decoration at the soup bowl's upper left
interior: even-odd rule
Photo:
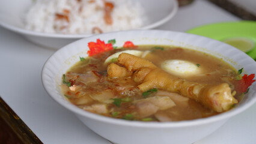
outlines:
[[[88,50],[88,55],[93,56],[98,53],[106,52],[108,50],[112,50],[113,46],[111,43],[105,44],[104,41],[101,41],[100,39],[97,39],[97,42],[90,42],[88,43],[88,47],[90,50]]]

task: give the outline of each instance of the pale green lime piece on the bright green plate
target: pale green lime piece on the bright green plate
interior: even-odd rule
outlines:
[[[249,52],[254,48],[254,41],[249,38],[228,38],[223,40],[223,42],[230,44],[243,52]]]

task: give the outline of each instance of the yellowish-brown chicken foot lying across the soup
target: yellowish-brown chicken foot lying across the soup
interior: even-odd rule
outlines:
[[[237,103],[227,83],[207,85],[204,83],[187,82],[184,79],[166,73],[146,59],[128,53],[121,53],[118,56],[118,63],[123,65],[127,71],[133,73],[133,80],[141,83],[138,85],[141,91],[157,88],[176,92],[185,97],[192,98],[216,112],[229,110],[233,104]],[[115,76],[115,74],[112,73],[112,76]]]

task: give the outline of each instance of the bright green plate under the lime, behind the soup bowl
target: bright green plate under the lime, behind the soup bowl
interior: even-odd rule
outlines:
[[[247,52],[247,54],[251,56],[251,58],[256,59],[256,22],[254,21],[213,23],[210,25],[199,26],[186,32],[202,35],[219,41],[233,37],[248,38],[254,41],[254,48]]]

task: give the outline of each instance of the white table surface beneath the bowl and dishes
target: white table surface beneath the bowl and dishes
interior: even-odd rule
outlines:
[[[240,20],[205,0],[181,7],[157,29],[186,31],[207,23]],[[0,95],[43,143],[109,143],[47,95],[41,69],[55,50],[37,46],[0,28]],[[256,143],[256,104],[194,144]],[[184,139],[186,139],[184,137]]]

